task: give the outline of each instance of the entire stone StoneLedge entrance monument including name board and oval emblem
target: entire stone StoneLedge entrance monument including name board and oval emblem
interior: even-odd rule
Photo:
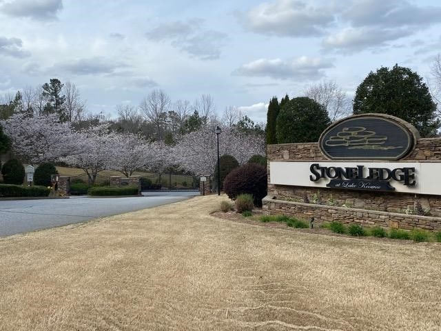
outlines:
[[[267,214],[441,230],[441,138],[400,119],[356,115],[317,143],[269,145],[267,157]]]

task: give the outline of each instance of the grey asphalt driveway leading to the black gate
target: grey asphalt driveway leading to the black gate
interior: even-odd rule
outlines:
[[[0,201],[0,237],[189,199],[198,192],[144,192],[144,197]]]

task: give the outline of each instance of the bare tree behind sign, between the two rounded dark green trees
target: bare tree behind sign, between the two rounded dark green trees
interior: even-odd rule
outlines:
[[[346,93],[335,81],[322,81],[305,90],[305,96],[324,106],[332,122],[351,113],[351,105]]]

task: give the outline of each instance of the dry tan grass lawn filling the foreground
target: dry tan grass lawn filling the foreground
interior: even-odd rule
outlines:
[[[0,239],[0,330],[440,330],[439,243],[216,219],[220,199]]]

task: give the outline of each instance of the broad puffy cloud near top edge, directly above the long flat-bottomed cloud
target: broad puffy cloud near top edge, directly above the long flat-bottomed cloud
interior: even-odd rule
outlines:
[[[332,13],[297,0],[261,3],[238,17],[249,30],[288,37],[318,36],[334,21]]]

